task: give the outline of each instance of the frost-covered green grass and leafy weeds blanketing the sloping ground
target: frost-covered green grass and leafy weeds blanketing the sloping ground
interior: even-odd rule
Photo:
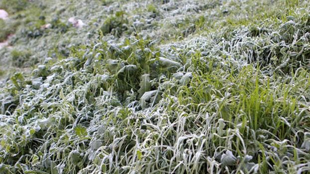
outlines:
[[[0,173],[310,171],[308,1],[139,2],[0,88]]]

